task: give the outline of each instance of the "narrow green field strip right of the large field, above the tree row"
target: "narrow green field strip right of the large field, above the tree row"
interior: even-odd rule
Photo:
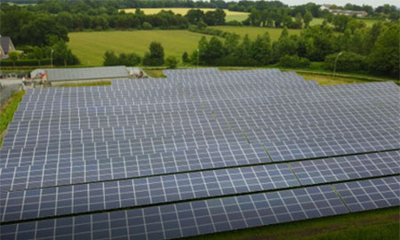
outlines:
[[[251,39],[256,38],[258,35],[263,35],[265,32],[269,33],[272,41],[276,41],[281,36],[282,28],[259,28],[259,27],[236,27],[236,26],[215,26],[211,28],[220,29],[226,32],[233,32],[240,36],[249,35]],[[300,34],[300,29],[289,29],[289,34]]]

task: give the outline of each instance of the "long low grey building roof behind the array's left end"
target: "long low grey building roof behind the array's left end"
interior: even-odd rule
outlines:
[[[125,66],[99,67],[99,68],[46,68],[32,71],[31,76],[43,73],[47,80],[54,81],[76,81],[89,79],[126,78],[128,70]]]

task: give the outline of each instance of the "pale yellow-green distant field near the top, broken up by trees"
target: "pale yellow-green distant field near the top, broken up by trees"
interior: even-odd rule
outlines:
[[[172,11],[175,13],[179,13],[181,15],[185,15],[186,12],[188,12],[191,8],[141,8],[140,10],[145,12],[145,14],[156,14],[157,12],[161,12],[162,10],[165,11]],[[203,12],[208,12],[208,11],[215,11],[214,8],[200,8]],[[125,12],[135,12],[136,9],[134,8],[128,8],[124,9]],[[249,14],[248,12],[230,12],[227,9],[224,9],[224,12],[227,13],[227,17],[225,20],[238,20],[242,21],[247,19],[247,15]]]

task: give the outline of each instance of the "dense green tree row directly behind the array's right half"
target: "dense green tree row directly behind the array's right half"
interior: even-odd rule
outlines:
[[[348,27],[343,34],[336,34],[324,23],[306,28],[300,36],[290,36],[284,28],[274,43],[268,33],[254,40],[244,36],[242,41],[235,34],[226,34],[224,41],[216,36],[210,41],[203,37],[198,43],[198,56],[195,51],[190,60],[196,64],[198,59],[200,65],[209,66],[265,66],[292,60],[302,67],[309,64],[308,60],[325,60],[325,68],[332,69],[332,59],[343,52],[338,70],[398,76],[399,32],[398,24],[380,22],[372,28]]]

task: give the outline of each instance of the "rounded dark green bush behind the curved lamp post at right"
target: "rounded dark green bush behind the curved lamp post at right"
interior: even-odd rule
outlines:
[[[335,60],[339,53],[327,55],[324,60],[324,69],[333,71]],[[336,63],[336,71],[356,72],[365,69],[365,57],[355,52],[342,52]]]

